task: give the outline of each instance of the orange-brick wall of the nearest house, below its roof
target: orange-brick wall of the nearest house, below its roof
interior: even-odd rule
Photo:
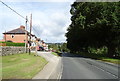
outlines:
[[[12,34],[6,34],[4,35],[4,39],[6,37],[6,41],[10,40],[15,43],[25,43],[25,34],[14,34],[14,37],[12,38]]]

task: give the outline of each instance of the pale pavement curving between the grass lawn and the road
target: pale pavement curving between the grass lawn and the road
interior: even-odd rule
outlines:
[[[37,55],[45,58],[48,64],[32,79],[58,79],[61,71],[61,58],[51,52],[37,52]]]

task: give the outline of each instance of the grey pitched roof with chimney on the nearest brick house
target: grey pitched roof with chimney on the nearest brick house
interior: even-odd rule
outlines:
[[[26,30],[24,26],[20,26],[20,28],[5,32],[3,34],[25,34]]]

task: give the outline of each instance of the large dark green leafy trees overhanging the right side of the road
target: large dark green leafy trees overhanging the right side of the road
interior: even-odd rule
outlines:
[[[106,46],[108,57],[113,57],[120,45],[119,6],[120,2],[74,2],[67,47],[77,52]]]

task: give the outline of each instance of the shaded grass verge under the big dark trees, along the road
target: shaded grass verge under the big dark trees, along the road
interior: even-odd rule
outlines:
[[[114,64],[120,64],[120,59],[108,58],[105,56],[105,54],[90,54],[90,53],[83,53],[83,52],[79,54],[84,57],[89,57],[96,60],[101,60],[101,61],[110,62]]]

